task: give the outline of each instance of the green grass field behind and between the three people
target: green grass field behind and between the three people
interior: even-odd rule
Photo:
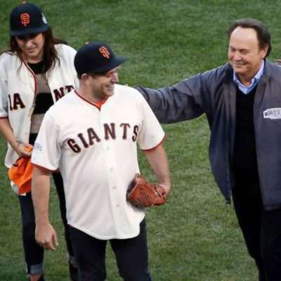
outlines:
[[[0,0],[0,47],[8,44],[8,18],[20,1]],[[33,1],[34,3],[34,1]],[[237,18],[266,22],[272,34],[270,60],[281,56],[281,2],[275,0],[38,0],[57,37],[74,48],[105,41],[129,61],[120,68],[122,84],[159,87],[221,65],[227,60],[226,30]],[[209,129],[205,117],[165,125],[165,143],[174,190],[169,204],[148,209],[148,242],[153,280],[255,281],[233,207],[228,210],[211,176]],[[25,280],[18,198],[4,167],[0,138],[0,280]],[[141,171],[154,181],[143,155]],[[63,228],[55,190],[51,221],[60,246],[46,252],[46,280],[69,280]],[[107,248],[107,280],[118,277]]]

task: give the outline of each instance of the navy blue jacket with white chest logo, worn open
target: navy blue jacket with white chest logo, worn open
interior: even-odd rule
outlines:
[[[233,149],[236,86],[229,63],[197,74],[174,86],[149,89],[136,86],[161,123],[207,116],[211,129],[209,159],[214,178],[227,202],[235,185]],[[281,67],[266,60],[254,98],[256,157],[263,206],[281,208]]]

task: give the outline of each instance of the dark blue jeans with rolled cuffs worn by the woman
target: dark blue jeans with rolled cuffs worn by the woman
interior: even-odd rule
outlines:
[[[66,208],[65,208],[65,192],[63,190],[63,178],[60,173],[53,173],[53,180],[58,192],[60,202],[60,216],[65,226],[65,241],[70,259],[73,257],[73,249],[69,238]],[[19,196],[20,210],[22,213],[22,243],[25,252],[25,263],[28,274],[40,274],[44,272],[44,248],[40,247],[35,240],[35,216],[32,203],[31,192],[26,196]]]

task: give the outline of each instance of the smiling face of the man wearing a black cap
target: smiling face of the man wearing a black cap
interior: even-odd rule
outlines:
[[[105,100],[105,98],[112,96],[114,94],[114,86],[119,81],[117,67],[105,74],[83,75],[89,76],[87,84],[95,101]]]

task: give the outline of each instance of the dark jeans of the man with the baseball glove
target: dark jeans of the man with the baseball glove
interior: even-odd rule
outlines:
[[[106,222],[105,222],[106,223]],[[125,281],[151,281],[148,269],[148,245],[145,220],[140,234],[130,239],[112,239],[110,244],[117,259],[119,275]],[[106,240],[98,240],[77,228],[70,229],[80,281],[104,281]]]

